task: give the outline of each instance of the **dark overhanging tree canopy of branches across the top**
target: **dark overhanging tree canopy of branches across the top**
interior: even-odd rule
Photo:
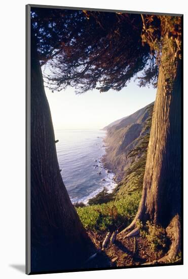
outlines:
[[[140,14],[32,8],[31,19],[52,90],[119,91],[140,71],[140,86],[156,86],[158,65],[143,44]],[[153,24],[159,26],[157,17]]]

